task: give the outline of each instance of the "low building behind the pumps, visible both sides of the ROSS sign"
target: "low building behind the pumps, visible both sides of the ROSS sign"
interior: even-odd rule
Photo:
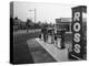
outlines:
[[[72,23],[72,19],[71,18],[56,19],[56,28],[59,31],[66,29],[67,32],[71,32],[71,23]],[[83,23],[82,24],[83,30],[87,30],[87,18],[82,19],[82,23]]]

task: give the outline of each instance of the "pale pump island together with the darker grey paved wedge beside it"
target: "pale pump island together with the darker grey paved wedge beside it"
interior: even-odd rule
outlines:
[[[69,62],[68,47],[69,43],[66,44],[66,48],[60,50],[55,44],[44,43],[42,40],[37,37],[36,40],[28,40],[27,44],[31,52],[34,63],[50,63],[50,62]]]

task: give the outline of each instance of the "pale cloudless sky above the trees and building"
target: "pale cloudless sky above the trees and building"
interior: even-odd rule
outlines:
[[[56,23],[56,19],[71,18],[71,8],[76,4],[46,3],[46,2],[13,2],[13,18],[18,16],[22,21],[31,19],[36,22]],[[34,14],[36,9],[36,14]],[[32,11],[30,11],[32,10]]]

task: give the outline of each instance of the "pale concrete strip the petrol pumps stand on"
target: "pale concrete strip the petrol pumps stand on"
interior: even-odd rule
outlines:
[[[68,45],[66,45],[65,50],[59,50],[53,44],[44,43],[40,38],[36,38],[36,41],[57,61],[57,62],[69,62],[68,58]]]

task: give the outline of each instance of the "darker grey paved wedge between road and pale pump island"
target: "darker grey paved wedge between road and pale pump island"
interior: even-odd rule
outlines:
[[[37,41],[31,38],[27,41],[29,52],[33,63],[53,63],[57,62]]]

